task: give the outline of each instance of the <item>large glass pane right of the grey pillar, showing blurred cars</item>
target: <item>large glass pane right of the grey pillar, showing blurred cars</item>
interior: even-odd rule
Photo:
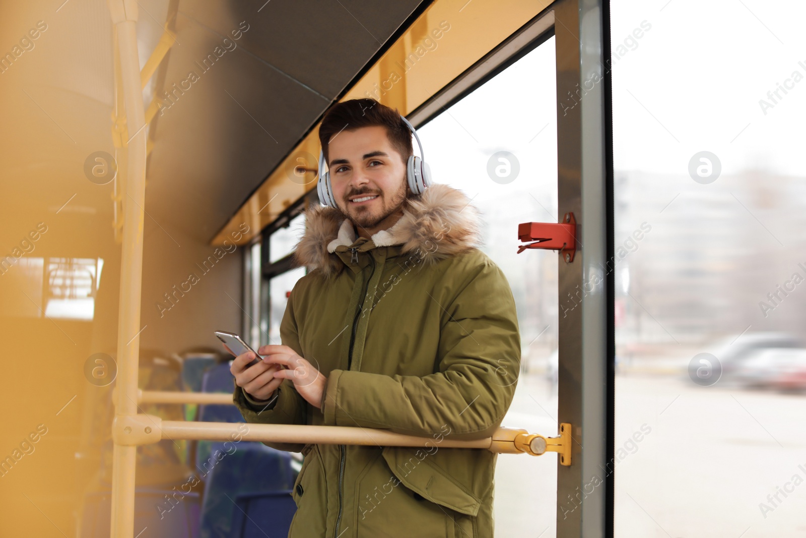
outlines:
[[[613,2],[616,536],[803,536],[803,2]]]

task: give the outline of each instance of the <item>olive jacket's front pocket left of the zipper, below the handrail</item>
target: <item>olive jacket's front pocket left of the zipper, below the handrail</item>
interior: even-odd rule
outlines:
[[[315,444],[305,448],[305,459],[291,489],[297,512],[291,520],[289,536],[325,536],[327,489],[322,459]]]

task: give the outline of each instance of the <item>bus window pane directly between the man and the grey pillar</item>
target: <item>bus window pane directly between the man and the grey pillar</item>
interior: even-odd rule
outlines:
[[[482,250],[515,297],[521,372],[502,425],[546,436],[557,432],[558,255],[517,254],[517,225],[558,222],[556,101],[551,37],[418,129],[434,181],[480,210]],[[496,535],[555,536],[557,467],[555,454],[498,457]]]

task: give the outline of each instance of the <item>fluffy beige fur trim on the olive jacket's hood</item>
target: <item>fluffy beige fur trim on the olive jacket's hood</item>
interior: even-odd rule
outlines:
[[[431,265],[481,244],[479,211],[461,191],[443,183],[407,198],[403,216],[372,236],[376,247],[401,245],[401,253],[418,252]],[[336,248],[355,244],[353,224],[339,209],[315,205],[305,211],[305,235],[294,251],[296,265],[339,273],[344,262]],[[344,249],[340,249],[343,251]]]

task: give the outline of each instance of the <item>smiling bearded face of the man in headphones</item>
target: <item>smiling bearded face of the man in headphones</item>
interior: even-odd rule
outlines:
[[[405,164],[386,128],[341,131],[328,143],[330,185],[339,209],[357,226],[386,229],[405,201]]]

